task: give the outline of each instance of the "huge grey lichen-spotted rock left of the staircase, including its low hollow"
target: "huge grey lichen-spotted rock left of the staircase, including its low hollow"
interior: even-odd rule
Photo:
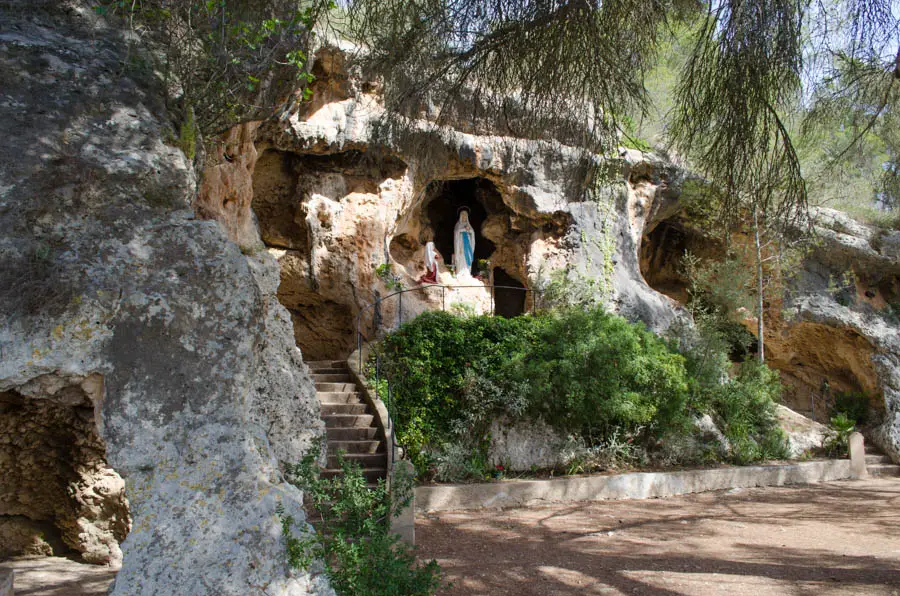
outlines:
[[[322,432],[277,265],[197,218],[125,47],[86,4],[2,3],[0,542],[115,562],[127,532],[113,594],[330,593],[276,514]]]

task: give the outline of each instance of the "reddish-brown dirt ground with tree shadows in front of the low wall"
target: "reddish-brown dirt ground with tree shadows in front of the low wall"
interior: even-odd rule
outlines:
[[[900,596],[900,479],[416,520],[443,594]]]

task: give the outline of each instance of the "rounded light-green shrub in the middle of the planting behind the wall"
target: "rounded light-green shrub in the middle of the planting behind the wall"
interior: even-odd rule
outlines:
[[[685,422],[684,358],[642,324],[602,308],[551,312],[506,374],[528,388],[528,412],[559,430],[646,438]]]

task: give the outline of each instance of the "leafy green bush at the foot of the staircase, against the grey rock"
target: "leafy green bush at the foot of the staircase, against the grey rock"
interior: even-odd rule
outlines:
[[[331,586],[345,596],[434,594],[441,585],[438,564],[419,564],[415,551],[389,531],[390,519],[410,502],[412,479],[395,478],[400,496],[392,499],[384,481],[368,488],[353,462],[342,460],[341,469],[341,476],[320,478],[315,454],[288,466],[288,479],[305,492],[316,523],[314,537],[297,538],[293,518],[279,512],[289,564],[307,569],[322,560]]]

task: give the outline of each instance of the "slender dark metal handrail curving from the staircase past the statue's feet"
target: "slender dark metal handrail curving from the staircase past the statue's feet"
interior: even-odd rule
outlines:
[[[528,292],[532,292],[532,311],[533,312],[537,311],[538,300],[539,300],[538,297],[541,294],[540,290],[524,288],[524,287],[519,287],[519,286],[504,286],[504,285],[493,285],[493,284],[448,286],[448,285],[444,285],[444,284],[425,284],[425,285],[416,286],[413,288],[404,288],[401,290],[397,290],[396,292],[393,292],[391,294],[388,294],[387,296],[378,297],[374,302],[371,302],[371,303],[363,306],[360,309],[359,314],[356,316],[356,351],[357,351],[358,358],[359,358],[358,370],[359,370],[359,374],[362,378],[365,378],[365,369],[363,369],[363,361],[362,361],[363,360],[363,346],[370,344],[374,339],[376,339],[376,336],[378,335],[378,329],[374,328],[375,320],[373,318],[372,338],[370,339],[365,336],[365,334],[362,332],[363,315],[366,312],[368,312],[370,309],[375,309],[376,307],[380,306],[381,304],[385,303],[386,301],[388,301],[391,298],[394,298],[396,296],[396,297],[398,297],[397,300],[399,302],[398,312],[397,312],[398,325],[402,325],[403,324],[403,294],[406,294],[408,292],[423,291],[423,290],[427,290],[428,288],[441,288],[441,310],[442,311],[446,310],[445,293],[448,288],[450,290],[458,290],[458,289],[490,290],[491,316],[496,316],[496,313],[497,313],[497,304],[496,304],[496,300],[494,299],[494,290],[499,289],[499,290],[514,290],[517,292],[524,292],[526,303],[528,301]],[[376,400],[381,399],[381,397],[378,395],[378,386],[380,384],[381,384],[381,356],[376,354],[375,355],[375,384],[373,386]],[[399,445],[397,444],[396,433],[394,432],[394,414],[393,414],[393,404],[392,404],[393,392],[391,391],[391,385],[389,382],[387,383],[387,395],[385,397],[387,399],[382,400],[382,401],[384,401],[385,406],[387,408],[388,428],[385,429],[385,431],[386,431],[386,434],[388,434],[391,437],[391,445],[389,446],[389,448],[391,449],[392,457],[390,458],[390,460],[396,461],[396,450],[399,447]]]

